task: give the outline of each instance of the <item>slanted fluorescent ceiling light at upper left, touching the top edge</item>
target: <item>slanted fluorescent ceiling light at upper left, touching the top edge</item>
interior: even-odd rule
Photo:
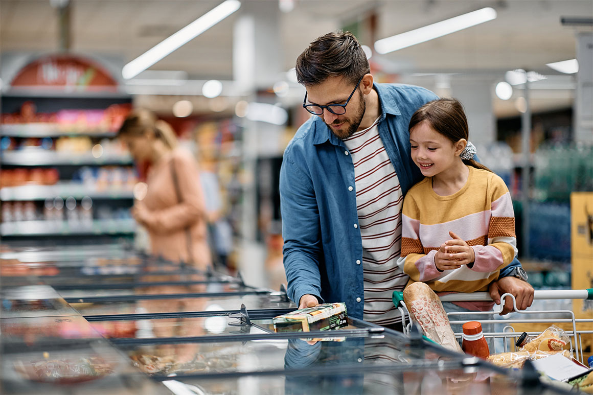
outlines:
[[[125,79],[135,77],[140,72],[146,70],[154,65],[154,63],[157,63],[159,60],[169,55],[178,47],[195,39],[197,36],[237,11],[239,7],[241,7],[241,2],[238,0],[227,0],[222,4],[219,4],[186,27],[177,31],[177,33],[162,40],[162,42],[138,56],[138,58],[132,60],[132,62],[123,66],[122,77]]]

